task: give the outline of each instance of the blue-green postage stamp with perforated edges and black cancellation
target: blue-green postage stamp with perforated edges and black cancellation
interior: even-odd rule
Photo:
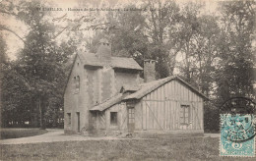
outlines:
[[[253,114],[221,114],[221,156],[254,157]]]

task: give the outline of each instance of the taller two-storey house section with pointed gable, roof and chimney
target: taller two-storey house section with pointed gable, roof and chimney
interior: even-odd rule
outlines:
[[[101,39],[96,53],[78,53],[64,93],[64,130],[92,129],[90,109],[119,92],[123,84],[138,84],[142,68],[132,58],[112,57],[111,45]]]

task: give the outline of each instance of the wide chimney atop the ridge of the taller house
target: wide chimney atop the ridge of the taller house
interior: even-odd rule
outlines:
[[[96,49],[96,55],[102,61],[110,61],[111,60],[111,44],[107,39],[102,38],[99,40]]]

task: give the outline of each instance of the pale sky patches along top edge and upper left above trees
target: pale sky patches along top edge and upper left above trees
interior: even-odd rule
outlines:
[[[47,3],[50,3],[52,8],[81,8],[81,3],[83,0],[46,0]],[[89,0],[88,0],[89,1]],[[187,3],[189,0],[178,0],[176,1],[181,7]],[[136,3],[139,4],[143,2],[142,0],[96,0],[91,5],[99,5],[102,6],[104,3],[108,4],[109,6],[116,6],[117,4],[124,5],[127,3]],[[198,3],[205,3],[205,8],[202,10],[203,14],[215,14],[217,12],[217,1],[214,0],[193,0],[193,2]],[[3,1],[0,3],[4,3]],[[85,8],[83,6],[82,8]],[[60,17],[64,15],[67,11],[63,12],[52,12],[52,17]],[[69,18],[73,17],[72,12],[68,12]],[[3,24],[13,30],[15,30],[21,37],[25,38],[28,34],[29,29],[20,21],[17,21],[14,17],[11,16],[3,16],[0,15],[0,24]],[[17,54],[19,51],[24,47],[24,43],[20,40],[16,35],[9,31],[1,31],[4,35],[5,41],[7,42],[7,55],[11,60],[15,60],[17,58]],[[178,60],[182,60],[182,57],[177,57]]]

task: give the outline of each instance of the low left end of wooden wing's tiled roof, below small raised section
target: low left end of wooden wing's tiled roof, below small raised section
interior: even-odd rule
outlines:
[[[103,111],[116,103],[119,103],[122,100],[122,93],[118,93],[117,95],[106,99],[104,102],[100,103],[99,105],[94,106],[90,111]]]

